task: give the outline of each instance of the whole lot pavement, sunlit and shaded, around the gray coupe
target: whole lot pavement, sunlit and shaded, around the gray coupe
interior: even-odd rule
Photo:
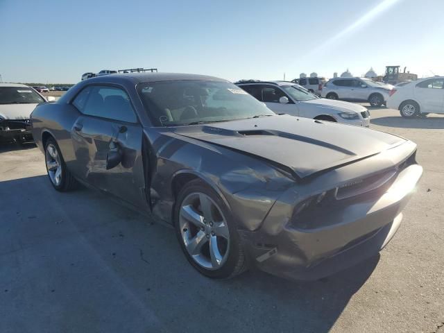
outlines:
[[[425,173],[382,253],[317,282],[204,278],[172,229],[60,194],[35,146],[1,146],[0,332],[444,332],[444,117],[371,114],[418,144]]]

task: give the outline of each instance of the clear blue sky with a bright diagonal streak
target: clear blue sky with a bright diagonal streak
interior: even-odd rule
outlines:
[[[0,0],[0,74],[76,83],[128,67],[238,80],[400,65],[444,75],[444,0]]]

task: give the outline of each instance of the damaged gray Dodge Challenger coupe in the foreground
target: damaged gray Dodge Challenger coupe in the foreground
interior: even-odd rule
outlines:
[[[31,121],[56,190],[80,183],[171,223],[210,278],[315,280],[372,257],[422,174],[407,139],[275,114],[211,76],[89,78]]]

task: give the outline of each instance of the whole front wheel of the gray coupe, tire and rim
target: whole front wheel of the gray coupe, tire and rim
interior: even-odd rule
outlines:
[[[185,257],[209,278],[232,278],[246,270],[244,249],[232,214],[205,182],[180,191],[174,210],[176,234]]]

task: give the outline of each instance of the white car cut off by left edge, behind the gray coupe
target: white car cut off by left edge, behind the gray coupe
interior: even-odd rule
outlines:
[[[45,99],[27,85],[0,83],[0,141],[33,141],[31,112],[46,101],[54,101],[54,97]]]

